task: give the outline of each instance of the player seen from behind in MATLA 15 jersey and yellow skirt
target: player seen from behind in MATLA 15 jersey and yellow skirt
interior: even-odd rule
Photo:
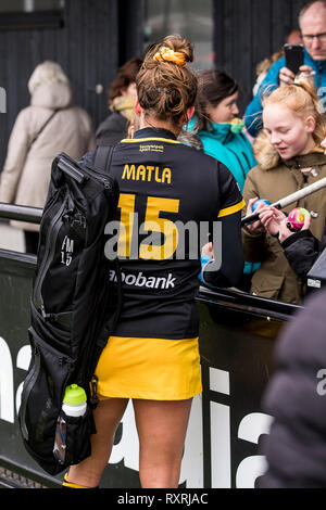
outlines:
[[[70,469],[65,487],[98,486],[129,399],[141,487],[178,487],[191,400],[202,390],[198,277],[217,286],[233,286],[241,278],[244,203],[237,183],[215,158],[177,140],[197,95],[197,78],[188,67],[192,58],[191,44],[178,36],[148,52],[136,78],[137,130],[113,151],[124,303],[96,371],[100,403],[92,454]],[[86,155],[82,164],[92,157]],[[213,242],[218,260],[208,243],[201,271],[203,235],[197,234],[217,220],[223,242],[205,237],[204,243]],[[183,232],[190,222],[195,237]],[[114,282],[114,275],[110,279]]]

